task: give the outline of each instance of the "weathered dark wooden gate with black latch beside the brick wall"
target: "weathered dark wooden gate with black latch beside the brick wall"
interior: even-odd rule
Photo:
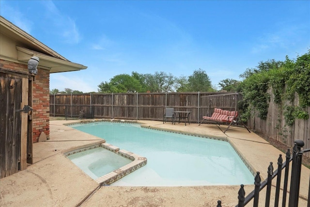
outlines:
[[[0,69],[0,178],[27,167],[27,148],[32,149],[29,80],[26,72]]]

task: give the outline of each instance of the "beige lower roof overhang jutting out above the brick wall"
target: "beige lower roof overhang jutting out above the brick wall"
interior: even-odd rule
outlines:
[[[16,46],[16,49],[18,61],[28,64],[28,61],[32,56],[37,56],[40,58],[38,67],[49,69],[50,73],[77,71],[87,68],[87,66],[82,64],[76,64],[59,58],[54,58],[27,48]]]

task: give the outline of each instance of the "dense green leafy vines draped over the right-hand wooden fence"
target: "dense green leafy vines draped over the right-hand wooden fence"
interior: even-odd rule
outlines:
[[[293,125],[294,120],[309,119],[304,108],[310,106],[310,50],[294,62],[286,56],[284,62],[275,60],[260,62],[255,69],[247,69],[240,77],[244,100],[248,110],[253,106],[262,119],[267,118],[270,94],[267,89],[272,87],[274,102],[283,105],[284,101],[293,102],[295,93],[299,97],[299,106],[283,106],[284,119],[287,125]],[[285,85],[287,86],[285,90]],[[247,104],[243,104],[246,106]],[[245,116],[244,118],[246,118]]]

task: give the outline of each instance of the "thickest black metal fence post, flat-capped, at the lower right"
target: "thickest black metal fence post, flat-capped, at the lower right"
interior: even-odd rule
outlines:
[[[305,143],[302,140],[294,141],[289,207],[298,207],[301,160],[303,154],[301,147],[304,145]]]

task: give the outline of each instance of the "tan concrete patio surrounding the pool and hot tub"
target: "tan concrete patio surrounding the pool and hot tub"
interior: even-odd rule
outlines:
[[[77,120],[50,121],[50,139],[33,144],[34,163],[24,171],[0,179],[0,206],[216,207],[217,200],[221,200],[223,207],[233,207],[238,203],[240,186],[100,187],[63,155],[68,150],[102,142],[98,137],[63,125],[73,122]],[[267,177],[269,162],[272,161],[276,169],[279,154],[285,157],[263,138],[240,127],[232,127],[224,134],[215,125],[191,123],[185,126],[184,123],[171,125],[159,121],[140,123],[150,128],[227,138],[252,170],[261,173],[262,180]],[[307,206],[309,179],[310,169],[302,166],[300,207]],[[245,186],[246,195],[253,189],[254,185]],[[265,191],[261,193],[260,206],[264,206]],[[271,204],[273,201],[274,196]]]

